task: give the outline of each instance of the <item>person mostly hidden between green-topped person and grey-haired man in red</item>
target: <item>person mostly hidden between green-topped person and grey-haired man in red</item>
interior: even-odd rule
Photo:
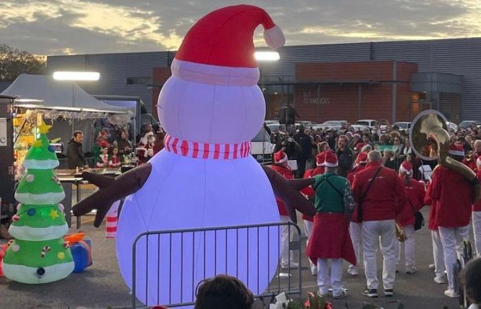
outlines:
[[[355,174],[357,174],[361,170],[364,170],[364,168],[366,168],[367,163],[368,163],[368,154],[366,152],[360,152],[359,155],[357,155],[354,170],[352,170],[348,174],[347,178],[349,183],[351,184],[353,183]],[[351,264],[348,267],[348,274],[353,276],[359,275],[358,265],[360,264],[359,260],[361,260],[359,258],[359,252],[361,251],[361,229],[362,229],[362,224],[357,220],[357,205],[356,205],[353,212],[353,218],[351,218],[351,221],[349,224],[350,239],[353,241],[354,253],[356,253],[356,261],[357,261],[357,265]]]

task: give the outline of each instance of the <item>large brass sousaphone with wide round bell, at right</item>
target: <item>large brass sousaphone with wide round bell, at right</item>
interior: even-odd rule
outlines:
[[[465,176],[474,186],[474,201],[479,200],[480,187],[476,174],[465,164],[449,157],[451,141],[447,132],[447,120],[442,113],[432,109],[419,113],[411,124],[409,137],[416,156],[427,161],[437,159],[440,165]]]

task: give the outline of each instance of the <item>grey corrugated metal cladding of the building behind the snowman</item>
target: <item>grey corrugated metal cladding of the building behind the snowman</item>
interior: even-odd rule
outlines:
[[[481,38],[436,41],[395,41],[333,45],[287,46],[278,62],[261,63],[266,80],[292,80],[296,62],[402,60],[416,62],[420,72],[439,71],[463,76],[462,117],[481,119]],[[128,76],[152,76],[153,67],[168,66],[168,52],[49,56],[49,71],[95,69],[101,80],[85,85],[93,94],[139,95],[150,109],[152,91],[127,85]],[[170,53],[172,57],[172,53]]]

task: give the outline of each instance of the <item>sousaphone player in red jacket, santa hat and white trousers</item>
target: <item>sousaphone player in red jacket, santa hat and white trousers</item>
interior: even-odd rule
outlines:
[[[449,149],[449,157],[456,161],[462,161],[464,156],[465,150],[461,145],[453,144]],[[454,290],[456,244],[460,244],[463,238],[469,237],[473,185],[461,174],[438,166],[432,174],[432,190],[429,194],[439,203],[436,209],[436,223],[443,242],[447,270],[448,289],[445,290],[445,295],[456,298],[458,297],[458,293]]]

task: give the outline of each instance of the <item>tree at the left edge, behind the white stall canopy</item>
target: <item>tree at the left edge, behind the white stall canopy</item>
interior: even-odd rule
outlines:
[[[0,45],[0,82],[12,82],[21,73],[41,74],[46,64],[44,56]]]

